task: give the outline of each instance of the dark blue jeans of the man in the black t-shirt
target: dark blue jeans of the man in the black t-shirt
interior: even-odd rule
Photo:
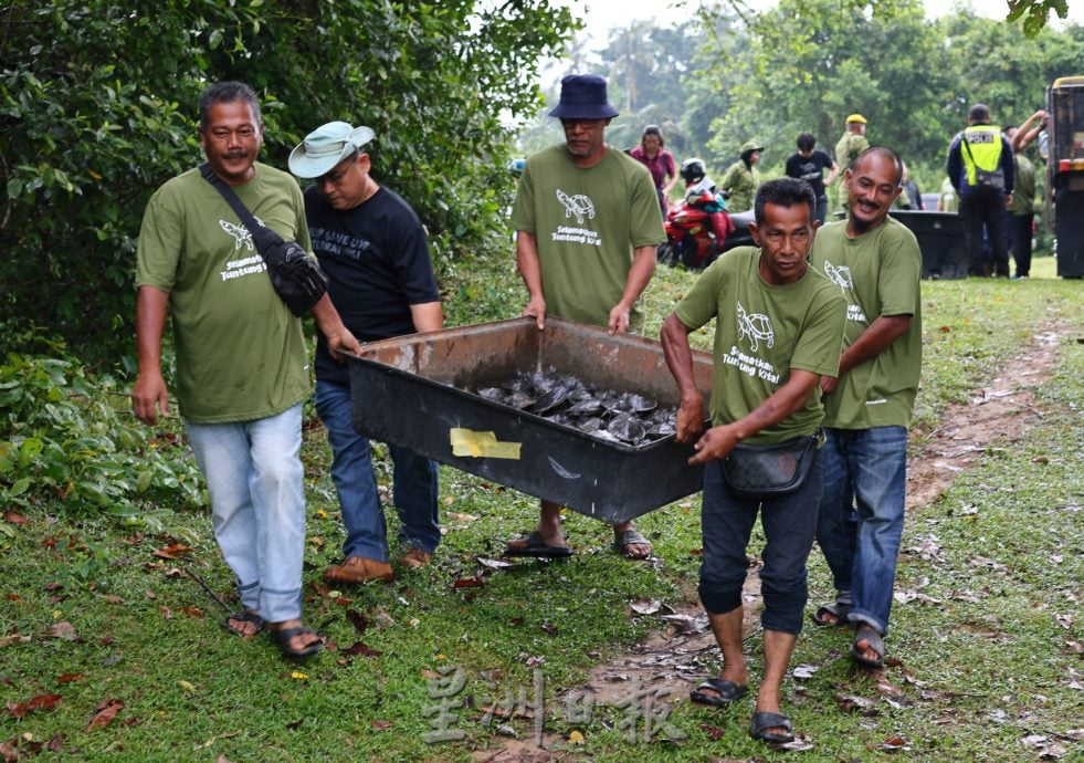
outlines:
[[[388,561],[388,529],[372,473],[369,440],[354,429],[350,388],[330,382],[316,383],[316,412],[327,427],[331,445],[331,480],[346,525],[344,556]],[[412,450],[389,445],[392,501],[402,526],[399,547],[433,553],[441,541],[436,499],[436,462]]]

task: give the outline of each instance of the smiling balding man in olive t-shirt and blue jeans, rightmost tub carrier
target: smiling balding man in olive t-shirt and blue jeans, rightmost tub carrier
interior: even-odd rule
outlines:
[[[888,217],[902,175],[892,149],[862,151],[844,173],[850,217],[824,226],[810,253],[848,301],[839,378],[821,380],[828,442],[817,541],[836,599],[813,621],[853,624],[851,655],[865,667],[884,659],[903,533],[907,427],[922,367],[922,253],[914,233]]]

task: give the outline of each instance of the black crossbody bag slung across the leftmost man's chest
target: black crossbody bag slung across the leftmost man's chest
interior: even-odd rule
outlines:
[[[249,229],[260,257],[267,263],[271,285],[294,315],[302,316],[327,293],[327,275],[316,260],[295,241],[284,241],[278,233],[261,224],[241,202],[238,195],[214,174],[208,163],[200,174],[214,186],[238,218]]]

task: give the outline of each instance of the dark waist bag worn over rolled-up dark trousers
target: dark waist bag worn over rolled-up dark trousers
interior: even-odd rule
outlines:
[[[730,490],[746,498],[792,493],[809,475],[823,437],[818,430],[769,446],[739,442],[723,458],[723,479]]]

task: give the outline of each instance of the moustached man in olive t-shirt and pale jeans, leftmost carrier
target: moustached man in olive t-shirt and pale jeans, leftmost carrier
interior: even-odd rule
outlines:
[[[264,224],[308,250],[297,182],[256,161],[263,121],[253,90],[240,82],[208,87],[199,136],[218,180]],[[301,320],[271,285],[251,232],[199,169],[168,180],[147,205],[136,286],[133,409],[149,425],[159,409],[169,414],[161,370],[168,313],[180,415],[207,479],[214,537],[238,579],[242,609],[223,625],[251,638],[266,624],[284,657],[309,657],[324,639],[301,621],[302,404],[309,395]],[[331,352],[361,349],[327,294],[312,313]]]

